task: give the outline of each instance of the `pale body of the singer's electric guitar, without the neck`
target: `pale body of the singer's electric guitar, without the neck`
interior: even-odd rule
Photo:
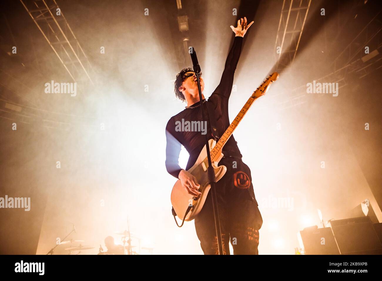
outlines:
[[[208,141],[208,144],[210,146],[210,150],[212,150],[214,146],[216,145],[216,141],[211,139]],[[214,168],[214,171],[215,171],[216,182],[218,182],[223,177],[225,172],[227,172],[227,167],[223,165],[219,167],[217,166],[217,163],[219,163],[222,157],[223,157],[223,154],[220,153],[220,156],[219,158],[217,158],[217,161],[212,162],[212,167]],[[182,187],[180,180],[177,180],[174,187],[172,188],[171,203],[178,218],[183,220],[183,217],[185,216],[185,213],[187,211],[189,204],[192,204],[193,208],[191,208],[188,214],[186,214],[185,221],[193,220],[196,217],[196,215],[199,214],[199,212],[202,210],[202,207],[204,205],[204,202],[206,201],[208,192],[211,188],[211,185],[208,182],[207,167],[208,167],[207,150],[206,150],[206,146],[204,146],[194,166],[192,166],[187,171],[191,173],[194,177],[196,177],[197,183],[200,184],[199,192],[201,192],[202,194],[199,195],[198,198],[194,198],[194,195],[189,194],[185,190],[185,188]]]

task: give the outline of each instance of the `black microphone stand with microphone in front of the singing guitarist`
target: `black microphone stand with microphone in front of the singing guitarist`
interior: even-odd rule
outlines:
[[[191,52],[191,60],[193,62],[194,72],[196,74],[197,78],[197,89],[199,90],[199,102],[200,102],[200,109],[202,110],[202,119],[203,123],[206,122],[206,118],[204,116],[204,109],[203,109],[203,101],[202,101],[202,90],[200,88],[200,80],[199,75],[201,72],[200,65],[197,61],[196,52],[195,49],[192,47]],[[223,255],[223,241],[222,241],[222,230],[220,229],[220,219],[219,219],[219,208],[217,206],[217,198],[216,198],[216,190],[215,190],[215,171],[212,167],[211,162],[211,155],[210,155],[210,146],[208,143],[208,134],[206,134],[206,149],[207,149],[207,160],[208,160],[208,181],[211,185],[210,192],[212,196],[212,208],[214,210],[214,220],[215,220],[215,230],[216,230],[216,237],[217,237],[217,246],[218,246],[218,252],[219,255]]]

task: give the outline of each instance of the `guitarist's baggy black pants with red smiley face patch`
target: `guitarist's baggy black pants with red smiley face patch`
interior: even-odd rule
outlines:
[[[240,158],[223,158],[219,162],[222,164],[227,172],[216,183],[216,196],[223,253],[230,254],[231,241],[234,255],[258,255],[262,217],[254,196],[251,171]],[[218,254],[211,192],[195,218],[195,228],[204,254]]]

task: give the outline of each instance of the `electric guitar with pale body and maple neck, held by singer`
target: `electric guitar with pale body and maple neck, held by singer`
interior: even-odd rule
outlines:
[[[252,93],[251,97],[249,97],[248,101],[244,104],[243,108],[240,110],[235,120],[233,120],[231,125],[220,137],[219,141],[217,143],[214,139],[210,139],[208,141],[210,147],[209,150],[211,155],[211,163],[212,167],[214,168],[216,182],[218,182],[223,177],[225,172],[227,172],[227,167],[223,165],[217,166],[220,159],[223,158],[223,146],[225,145],[225,143],[227,143],[228,139],[232,135],[233,131],[236,129],[237,125],[240,123],[241,119],[243,119],[249,107],[251,107],[251,105],[257,98],[264,96],[264,94],[268,91],[270,84],[276,81],[277,78],[277,72],[274,72],[272,73],[272,75],[269,75],[268,78],[265,79],[265,81],[259,86],[259,88],[257,88]],[[172,188],[171,203],[178,218],[182,220],[184,219],[185,221],[191,221],[202,210],[208,192],[211,188],[208,181],[207,167],[207,149],[206,146],[204,146],[194,166],[192,166],[188,170],[189,173],[196,177],[197,183],[200,184],[198,190],[202,194],[198,197],[189,194],[185,190],[185,188],[182,187],[180,180],[177,180],[174,187]],[[187,211],[188,209],[189,211]]]

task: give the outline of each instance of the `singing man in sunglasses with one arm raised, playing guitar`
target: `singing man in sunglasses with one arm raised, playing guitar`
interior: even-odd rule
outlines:
[[[230,26],[235,32],[235,40],[225,62],[220,84],[208,101],[202,96],[203,102],[213,104],[219,136],[230,125],[228,99],[231,94],[233,75],[239,60],[244,34],[252,24],[253,21],[247,25],[247,19],[244,17],[244,19],[238,20],[236,28]],[[200,78],[200,86],[203,93],[203,78]],[[181,122],[182,119],[190,122],[202,122],[196,75],[191,68],[185,68],[176,75],[174,91],[176,97],[187,102],[187,107],[168,120],[166,126],[166,169],[168,173],[180,179],[183,188],[189,194],[197,196],[201,194],[198,191],[200,185],[196,182],[196,178],[186,170],[196,162],[199,153],[206,144],[206,136],[205,133],[202,134],[201,132],[178,132],[175,130],[175,122]],[[207,134],[211,136],[207,106],[204,106],[204,111],[208,122]],[[190,154],[186,170],[181,169],[178,164],[181,145],[185,146]],[[259,245],[259,229],[262,225],[262,218],[254,195],[251,171],[241,160],[242,156],[233,136],[224,146],[223,154],[224,157],[219,165],[226,166],[227,172],[215,185],[222,230],[223,253],[229,255],[228,243],[231,240],[234,254],[256,255],[258,254],[257,246]],[[182,215],[180,214],[180,216]],[[195,228],[204,254],[217,254],[217,237],[210,192],[201,212],[195,218]]]

